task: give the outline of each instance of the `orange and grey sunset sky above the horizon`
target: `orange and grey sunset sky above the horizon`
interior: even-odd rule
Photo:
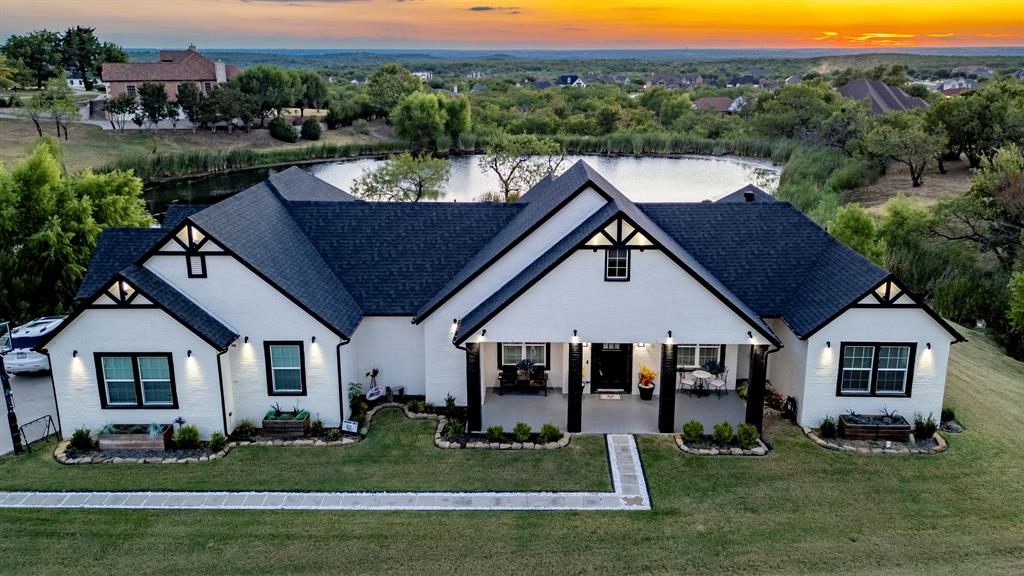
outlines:
[[[0,39],[85,25],[127,47],[1024,45],[1024,0],[0,0]]]

